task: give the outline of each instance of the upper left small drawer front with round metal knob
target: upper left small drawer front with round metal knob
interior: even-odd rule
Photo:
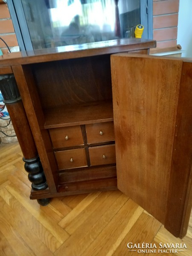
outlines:
[[[49,129],[49,134],[53,148],[64,148],[84,144],[80,125]]]

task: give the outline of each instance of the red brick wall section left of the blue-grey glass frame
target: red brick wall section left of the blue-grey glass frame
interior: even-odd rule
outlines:
[[[0,0],[0,37],[6,41],[9,48],[18,46],[17,38],[13,28],[7,4]],[[3,53],[7,53],[8,49],[3,41],[0,40],[0,49]]]

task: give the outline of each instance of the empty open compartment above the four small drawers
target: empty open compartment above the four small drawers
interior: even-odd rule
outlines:
[[[32,65],[45,128],[113,119],[110,55]]]

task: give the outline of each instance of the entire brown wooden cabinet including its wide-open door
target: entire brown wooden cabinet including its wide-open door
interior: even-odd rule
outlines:
[[[154,41],[122,39],[3,55],[0,90],[31,199],[46,205],[118,186],[175,236],[185,235],[192,67],[149,57],[150,47]]]

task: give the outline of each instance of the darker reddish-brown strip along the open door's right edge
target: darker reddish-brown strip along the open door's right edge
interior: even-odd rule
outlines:
[[[186,235],[192,209],[192,63],[183,63],[165,227]]]

